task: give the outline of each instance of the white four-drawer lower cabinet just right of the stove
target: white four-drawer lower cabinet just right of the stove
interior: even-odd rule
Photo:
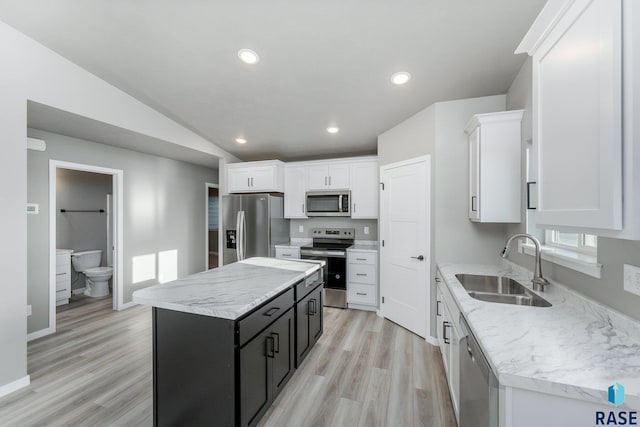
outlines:
[[[349,308],[378,309],[377,251],[347,250],[347,303]]]

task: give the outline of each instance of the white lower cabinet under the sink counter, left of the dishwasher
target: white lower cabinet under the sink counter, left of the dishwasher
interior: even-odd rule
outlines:
[[[460,310],[453,296],[436,273],[436,325],[442,364],[447,377],[451,403],[459,420],[460,410]]]

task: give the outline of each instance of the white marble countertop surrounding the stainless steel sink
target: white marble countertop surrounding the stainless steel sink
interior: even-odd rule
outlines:
[[[536,292],[552,307],[526,307],[471,298],[455,277],[508,276],[532,290],[531,273],[512,263],[438,268],[502,385],[607,404],[619,382],[620,408],[640,408],[640,322],[555,282]]]

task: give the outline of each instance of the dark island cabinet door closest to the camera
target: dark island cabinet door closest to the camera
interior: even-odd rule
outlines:
[[[240,425],[255,425],[271,401],[271,330],[240,349]]]

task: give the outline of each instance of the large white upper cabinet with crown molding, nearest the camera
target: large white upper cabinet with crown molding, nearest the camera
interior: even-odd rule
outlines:
[[[624,2],[623,28],[623,0],[550,2],[518,48],[533,57],[538,226],[617,237],[628,235],[623,226],[638,232],[632,211],[625,207],[623,215],[623,197],[625,205],[638,203],[633,178],[623,195],[623,173],[638,175],[623,171],[623,158],[638,158],[631,135],[637,124],[628,125],[623,141],[623,114],[632,122],[638,100],[631,79],[633,68],[638,73],[638,35],[631,30],[637,7]],[[637,192],[637,178],[635,184]]]

